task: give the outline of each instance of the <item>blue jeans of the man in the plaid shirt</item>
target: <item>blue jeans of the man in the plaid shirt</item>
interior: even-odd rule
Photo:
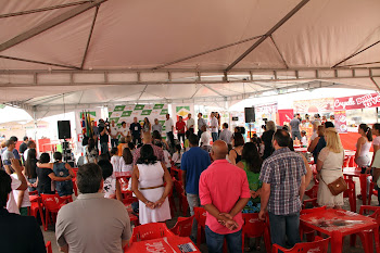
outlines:
[[[287,238],[290,248],[301,242],[300,213],[275,215],[269,212],[269,225],[273,244],[277,243],[280,246],[287,248]]]

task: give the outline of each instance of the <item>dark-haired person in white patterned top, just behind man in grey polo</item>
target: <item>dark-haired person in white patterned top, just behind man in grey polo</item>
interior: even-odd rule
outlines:
[[[114,176],[112,164],[110,161],[99,161],[99,167],[102,169],[103,175],[103,193],[104,198],[117,199],[122,201],[122,190],[118,180]]]

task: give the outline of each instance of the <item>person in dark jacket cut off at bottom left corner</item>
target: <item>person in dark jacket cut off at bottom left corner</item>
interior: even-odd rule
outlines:
[[[9,213],[7,201],[12,191],[12,178],[0,169],[0,252],[46,253],[41,229],[33,216]]]

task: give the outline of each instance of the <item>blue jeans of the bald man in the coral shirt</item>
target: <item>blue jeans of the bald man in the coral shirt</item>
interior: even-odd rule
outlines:
[[[208,253],[221,253],[223,252],[223,243],[226,238],[227,246],[229,253],[241,253],[241,244],[242,244],[242,229],[233,233],[219,235],[213,232],[208,226],[204,229],[206,233],[206,242],[208,248]]]

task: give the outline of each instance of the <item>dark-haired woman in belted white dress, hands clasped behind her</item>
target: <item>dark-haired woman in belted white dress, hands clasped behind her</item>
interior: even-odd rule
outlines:
[[[167,195],[173,187],[172,177],[165,164],[157,161],[150,144],[141,148],[140,159],[134,167],[131,179],[132,191],[139,199],[140,224],[170,219]]]

